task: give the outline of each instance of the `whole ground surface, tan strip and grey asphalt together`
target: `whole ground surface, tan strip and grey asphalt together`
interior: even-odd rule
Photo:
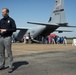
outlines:
[[[14,71],[0,75],[76,75],[76,47],[69,45],[22,44],[12,46]]]

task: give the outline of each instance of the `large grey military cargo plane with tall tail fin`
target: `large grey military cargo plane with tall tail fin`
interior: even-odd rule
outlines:
[[[40,26],[31,28],[31,29],[17,28],[17,30],[20,30],[16,36],[16,39],[18,41],[21,41],[23,37],[27,36],[29,33],[30,33],[30,36],[33,37],[33,41],[35,41],[37,40],[36,39],[37,37],[39,36],[46,37],[54,31],[59,33],[71,32],[68,30],[57,30],[57,28],[59,27],[74,27],[74,28],[76,27],[76,26],[69,26],[68,23],[66,23],[64,0],[55,0],[53,13],[48,23],[40,23],[40,22],[27,22],[27,23],[40,25]]]

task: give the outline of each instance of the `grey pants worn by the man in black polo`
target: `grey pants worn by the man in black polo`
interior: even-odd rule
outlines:
[[[9,68],[13,65],[11,44],[11,37],[0,37],[0,67],[5,66],[5,49],[8,55]]]

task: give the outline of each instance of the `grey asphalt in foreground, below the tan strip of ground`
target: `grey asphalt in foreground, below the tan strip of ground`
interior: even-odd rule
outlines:
[[[14,57],[14,71],[0,70],[0,75],[76,75],[76,50],[49,51]]]

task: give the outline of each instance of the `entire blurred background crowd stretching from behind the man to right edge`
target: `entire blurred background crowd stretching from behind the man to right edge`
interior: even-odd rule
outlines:
[[[12,35],[12,43],[21,42],[17,41],[15,35]],[[32,44],[32,43],[40,43],[40,44],[64,44],[67,45],[67,37],[59,37],[59,36],[47,36],[47,37],[37,37],[34,39],[33,36],[30,36],[30,33],[27,36],[23,37],[23,43]],[[73,38],[72,45],[76,46],[76,38]]]

